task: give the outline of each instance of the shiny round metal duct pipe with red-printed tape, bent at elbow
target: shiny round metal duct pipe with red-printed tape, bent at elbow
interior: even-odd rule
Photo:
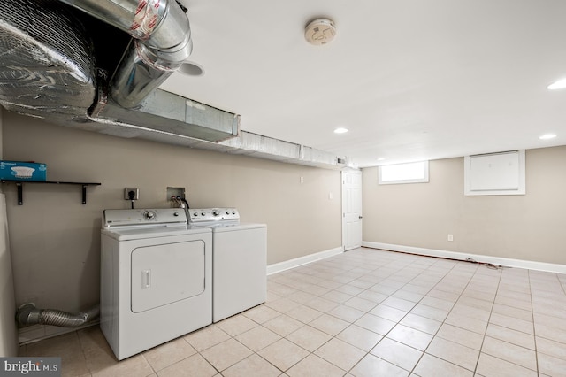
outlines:
[[[61,0],[134,37],[110,84],[120,106],[138,106],[192,50],[188,19],[174,0]]]

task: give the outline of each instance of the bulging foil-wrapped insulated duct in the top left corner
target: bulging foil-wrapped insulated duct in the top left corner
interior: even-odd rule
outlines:
[[[96,94],[84,27],[49,0],[0,1],[0,103],[28,115],[85,115]]]

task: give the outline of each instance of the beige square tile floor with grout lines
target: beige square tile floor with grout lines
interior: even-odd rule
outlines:
[[[98,327],[22,346],[65,376],[564,376],[566,275],[356,249],[268,300],[117,362]]]

